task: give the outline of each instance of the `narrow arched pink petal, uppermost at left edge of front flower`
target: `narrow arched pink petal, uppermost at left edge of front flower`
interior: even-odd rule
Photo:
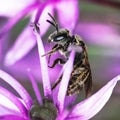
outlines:
[[[0,78],[2,78],[5,82],[7,82],[17,91],[17,93],[21,96],[27,108],[29,109],[32,105],[32,99],[28,92],[25,90],[25,88],[20,85],[20,83],[17,82],[17,80],[15,80],[12,76],[2,70],[0,70]]]

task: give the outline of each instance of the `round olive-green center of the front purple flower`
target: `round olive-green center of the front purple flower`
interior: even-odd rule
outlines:
[[[45,99],[43,105],[36,103],[30,109],[31,120],[55,120],[57,117],[57,108],[52,101]]]

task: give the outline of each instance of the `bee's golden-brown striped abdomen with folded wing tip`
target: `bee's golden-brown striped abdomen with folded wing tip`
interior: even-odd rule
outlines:
[[[67,95],[80,93],[82,88],[85,88],[86,97],[88,97],[92,90],[92,78],[89,69],[78,70],[71,74]]]

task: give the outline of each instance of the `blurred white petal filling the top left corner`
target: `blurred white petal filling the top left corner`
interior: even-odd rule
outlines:
[[[32,4],[34,0],[4,0],[0,1],[0,16],[12,17],[22,9]]]

